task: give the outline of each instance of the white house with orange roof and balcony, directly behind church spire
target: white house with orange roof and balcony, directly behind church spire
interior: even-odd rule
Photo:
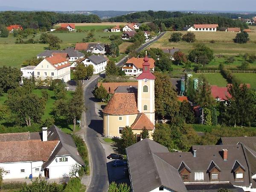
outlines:
[[[143,58],[130,58],[123,66],[122,71],[125,72],[127,76],[138,76],[143,72]],[[154,59],[148,58],[148,63],[151,71],[154,71]]]

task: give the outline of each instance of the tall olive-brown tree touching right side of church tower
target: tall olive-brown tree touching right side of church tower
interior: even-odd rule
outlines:
[[[167,75],[154,72],[155,80],[155,110],[159,119],[170,119],[171,122],[179,113],[177,93],[172,87]]]

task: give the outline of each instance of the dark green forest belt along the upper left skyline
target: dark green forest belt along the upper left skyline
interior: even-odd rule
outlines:
[[[56,12],[0,12],[0,25],[20,24],[23,29],[51,29],[56,23],[99,23],[97,15],[62,14]]]

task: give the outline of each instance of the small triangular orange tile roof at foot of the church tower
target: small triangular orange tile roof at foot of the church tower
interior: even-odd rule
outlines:
[[[132,130],[143,130],[145,127],[146,130],[153,130],[154,124],[148,119],[145,113],[139,113],[134,123],[131,125]]]

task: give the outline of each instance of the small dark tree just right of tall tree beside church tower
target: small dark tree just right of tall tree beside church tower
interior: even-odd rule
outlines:
[[[193,106],[189,102],[183,101],[180,103],[180,115],[184,122],[193,124],[195,122],[195,115],[193,113]]]

